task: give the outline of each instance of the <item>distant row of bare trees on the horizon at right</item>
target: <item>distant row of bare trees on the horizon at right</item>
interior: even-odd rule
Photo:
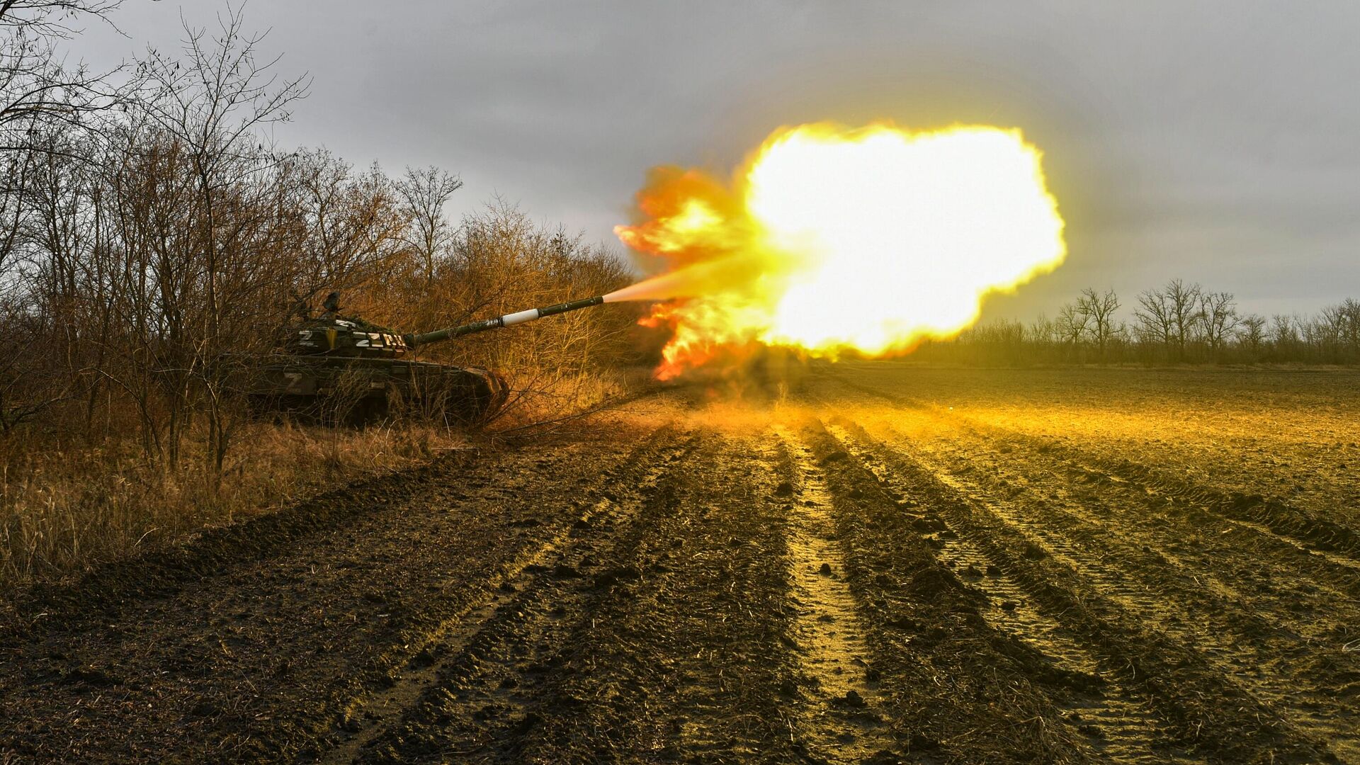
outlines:
[[[1118,319],[1114,290],[1081,291],[1053,319],[987,321],[952,340],[923,343],[919,361],[1036,363],[1360,363],[1360,301],[1314,316],[1242,313],[1231,293],[1172,279],[1144,290]]]

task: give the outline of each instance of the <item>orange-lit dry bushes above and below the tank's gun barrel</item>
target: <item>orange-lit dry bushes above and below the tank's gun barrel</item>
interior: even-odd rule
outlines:
[[[426,271],[424,263],[432,263]],[[355,313],[403,331],[428,331],[613,291],[632,279],[613,253],[495,203],[464,218],[435,257],[350,298]],[[636,362],[634,305],[558,314],[511,329],[419,348],[422,358],[481,366],[513,389],[503,418],[522,425],[590,407],[624,391],[612,370]]]

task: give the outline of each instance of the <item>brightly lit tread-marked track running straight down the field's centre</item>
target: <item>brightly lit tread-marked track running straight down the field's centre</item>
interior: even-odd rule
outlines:
[[[802,704],[794,712],[801,751],[827,764],[892,762],[900,747],[883,726],[880,672],[869,662],[858,607],[845,580],[826,478],[787,430],[777,429],[774,437],[772,460],[783,479],[775,494],[789,497],[790,600],[804,678]]]

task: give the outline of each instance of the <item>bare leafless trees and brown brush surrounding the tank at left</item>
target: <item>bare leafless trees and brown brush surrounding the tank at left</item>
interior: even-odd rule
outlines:
[[[273,351],[299,305],[340,291],[345,313],[428,329],[628,280],[514,206],[450,221],[462,184],[445,170],[276,147],[269,127],[309,80],[282,75],[239,12],[186,29],[182,50],[67,68],[67,25],[116,7],[0,4],[0,433],[131,437],[151,463],[220,471],[249,419],[224,359]],[[626,357],[632,320],[581,312],[426,357],[551,395]]]

